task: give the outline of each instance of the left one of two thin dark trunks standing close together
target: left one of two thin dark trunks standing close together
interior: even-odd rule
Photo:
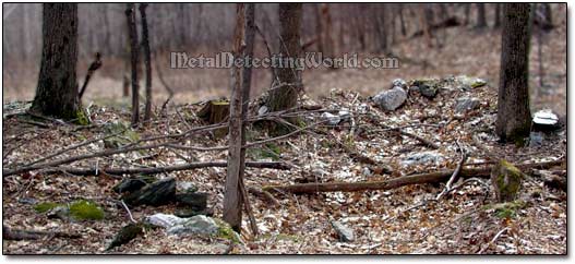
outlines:
[[[132,125],[140,121],[140,84],[137,79],[137,64],[140,60],[140,45],[137,41],[137,28],[135,27],[135,4],[128,3],[125,10],[128,17],[128,31],[130,35],[130,53],[132,61]]]

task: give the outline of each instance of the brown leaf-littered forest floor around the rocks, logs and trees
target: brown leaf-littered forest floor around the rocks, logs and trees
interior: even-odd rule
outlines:
[[[562,17],[559,17],[562,20]],[[550,33],[546,41],[544,61],[547,87],[537,88],[531,108],[551,108],[560,116],[566,113],[566,31],[565,23]],[[556,160],[566,155],[566,131],[548,133],[541,146],[516,147],[496,142],[493,134],[496,117],[496,83],[500,59],[500,35],[492,32],[477,32],[464,28],[446,31],[446,43],[442,49],[429,49],[421,38],[399,45],[394,50],[399,57],[410,55],[402,69],[390,71],[361,70],[314,70],[304,73],[304,82],[311,98],[304,105],[319,105],[325,109],[347,109],[355,115],[352,146],[358,153],[376,161],[378,165],[355,160],[340,143],[350,142],[351,123],[335,127],[316,125],[306,133],[286,140],[275,141],[249,152],[250,160],[279,160],[294,166],[290,170],[248,168],[245,185],[260,188],[268,184],[294,184],[302,180],[320,182],[358,182],[387,180],[419,172],[454,169],[460,159],[457,142],[469,153],[469,167],[489,166],[493,157],[504,157],[514,164]],[[535,50],[537,44],[534,43]],[[424,52],[423,52],[424,50]],[[530,83],[537,83],[537,57],[531,52]],[[421,63],[427,61],[427,63]],[[488,85],[470,91],[443,88],[438,97],[428,99],[418,93],[409,95],[406,104],[395,111],[382,111],[368,98],[387,88],[391,81],[402,77],[406,81],[424,77],[472,74],[488,81]],[[227,72],[220,80],[227,80]],[[105,79],[105,77],[103,77]],[[97,80],[97,77],[95,79]],[[169,77],[168,77],[169,80]],[[262,91],[267,81],[257,81]],[[257,84],[257,82],[263,84]],[[183,82],[185,83],[185,82]],[[209,82],[208,82],[209,83]],[[213,87],[227,87],[228,82],[213,81]],[[128,110],[110,107],[105,103],[116,101],[118,106],[120,82],[111,79],[95,81],[86,99],[94,101],[89,107],[96,124],[77,129],[71,125],[38,127],[22,122],[15,116],[3,119],[2,167],[14,168],[47,156],[57,149],[77,144],[86,139],[103,136],[103,124],[112,121],[129,122]],[[206,83],[194,84],[206,86]],[[28,85],[29,86],[29,85]],[[33,85],[32,85],[33,86]],[[177,85],[175,85],[177,86]],[[101,88],[100,88],[101,87]],[[161,86],[157,89],[160,91]],[[169,107],[167,118],[158,119],[153,125],[140,128],[141,137],[185,131],[189,125],[202,125],[195,117],[199,104],[189,104],[220,96],[226,88],[209,88],[207,93],[194,88],[180,88]],[[354,91],[354,92],[350,92]],[[32,92],[22,89],[4,91],[4,103],[13,99],[32,99]],[[161,93],[161,92],[158,92]],[[257,95],[259,93],[254,93]],[[478,97],[477,110],[455,115],[454,104],[462,96]],[[161,105],[165,95],[157,96]],[[176,111],[177,109],[177,111]],[[369,115],[368,115],[369,113]],[[316,120],[319,112],[309,112],[308,123]],[[375,117],[379,122],[368,119]],[[311,120],[313,119],[313,120]],[[412,137],[382,131],[381,124],[392,128],[405,127],[405,131],[434,142],[439,149],[430,149]],[[265,132],[250,128],[251,140],[269,137]],[[226,145],[226,140],[214,140],[209,133],[188,137],[188,145]],[[63,156],[92,153],[104,148],[101,142],[80,147]],[[420,165],[403,163],[410,155],[433,153],[440,156],[435,161]],[[119,154],[113,157],[76,161],[73,166],[94,167],[155,167],[193,161],[225,160],[226,152],[155,151]],[[380,167],[391,167],[393,172],[382,172]],[[565,173],[565,166],[547,170],[550,173]],[[524,171],[534,175],[531,170]],[[544,172],[544,171],[543,171]],[[541,173],[541,171],[539,171]],[[203,168],[176,171],[158,177],[173,177],[191,181],[199,191],[209,193],[208,204],[214,216],[221,217],[225,168]],[[119,182],[115,177],[75,177],[67,173],[43,173],[32,171],[3,177],[2,208],[3,225],[15,229],[65,231],[81,235],[81,238],[52,238],[40,240],[3,241],[7,254],[70,254],[70,253],[221,253],[227,251],[228,241],[209,237],[168,236],[164,230],[146,232],[128,244],[105,251],[118,230],[129,223],[125,211],[111,200],[118,194],[111,188]],[[506,254],[566,254],[566,193],[550,188],[537,176],[522,184],[519,199],[525,205],[502,216],[488,206],[494,203],[488,179],[465,184],[440,202],[428,202],[435,197],[444,184],[415,184],[385,191],[333,192],[319,194],[275,193],[278,207],[250,194],[261,236],[243,237],[244,243],[237,244],[231,253],[506,253]],[[100,221],[64,221],[49,219],[34,211],[31,203],[71,202],[87,199],[97,202],[106,212]],[[132,208],[135,219],[155,213],[172,213],[172,206],[139,206]],[[244,217],[245,218],[245,217]],[[330,220],[344,223],[356,235],[354,242],[339,242]],[[243,227],[249,229],[247,219]]]

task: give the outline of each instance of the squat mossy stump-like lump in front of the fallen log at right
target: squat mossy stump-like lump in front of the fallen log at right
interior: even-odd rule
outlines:
[[[517,167],[501,159],[491,170],[491,183],[498,202],[514,201],[522,187],[522,179],[523,173]]]

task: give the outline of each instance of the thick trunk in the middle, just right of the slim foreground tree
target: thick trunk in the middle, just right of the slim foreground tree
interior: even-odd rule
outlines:
[[[297,60],[300,57],[301,3],[279,3],[279,51],[283,58]],[[275,83],[269,91],[267,107],[269,111],[292,108],[298,103],[298,96],[303,92],[301,71],[295,67],[277,69],[280,83]]]

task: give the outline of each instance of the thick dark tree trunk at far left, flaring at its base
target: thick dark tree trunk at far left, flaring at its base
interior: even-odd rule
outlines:
[[[44,3],[43,50],[31,110],[64,120],[85,121],[77,99],[77,4]]]

